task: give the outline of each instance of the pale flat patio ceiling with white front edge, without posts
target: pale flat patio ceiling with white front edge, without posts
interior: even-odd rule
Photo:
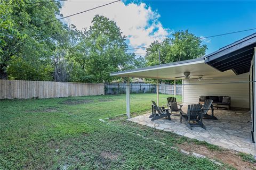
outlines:
[[[190,76],[200,75],[204,78],[231,77],[236,75],[231,70],[221,72],[214,69],[212,66],[205,64],[204,58],[115,72],[110,75],[118,77],[178,80],[175,77],[184,76],[184,72],[190,72]]]

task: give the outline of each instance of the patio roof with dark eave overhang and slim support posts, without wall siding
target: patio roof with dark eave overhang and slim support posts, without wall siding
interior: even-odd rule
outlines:
[[[177,80],[177,77],[182,77],[184,72],[190,72],[191,76],[194,75],[203,78],[233,77],[250,71],[252,58],[253,55],[255,55],[255,48],[256,33],[253,33],[202,58],[114,72],[110,73],[110,75],[118,77],[152,78],[157,80]],[[127,117],[130,117],[130,79],[128,79],[126,86],[126,114]]]

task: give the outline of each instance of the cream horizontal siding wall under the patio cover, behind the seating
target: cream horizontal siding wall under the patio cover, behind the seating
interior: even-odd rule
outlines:
[[[184,80],[184,102],[198,103],[199,96],[230,96],[231,107],[249,108],[249,82],[229,83],[237,81],[249,81],[249,74],[241,74],[235,77]],[[227,84],[205,84],[205,83],[227,83]]]

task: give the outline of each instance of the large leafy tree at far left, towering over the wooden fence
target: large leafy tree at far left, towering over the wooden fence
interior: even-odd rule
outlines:
[[[44,76],[35,76],[36,80],[53,80],[52,56],[57,47],[57,38],[65,30],[60,21],[41,24],[54,20],[59,12],[59,2],[45,2],[35,5],[28,1],[1,1],[1,78],[31,80],[30,75],[44,72]],[[5,22],[11,22],[10,29]],[[31,28],[28,28],[31,27]],[[28,29],[27,29],[28,28]],[[7,72],[8,71],[8,72]],[[52,71],[52,72],[50,72]],[[46,78],[47,77],[47,78]]]

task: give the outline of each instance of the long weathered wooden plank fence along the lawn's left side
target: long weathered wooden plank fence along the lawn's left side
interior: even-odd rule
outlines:
[[[104,95],[104,84],[0,80],[0,99]]]

